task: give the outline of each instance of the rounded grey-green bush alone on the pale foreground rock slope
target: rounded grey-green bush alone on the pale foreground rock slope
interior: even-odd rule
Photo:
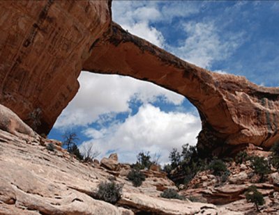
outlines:
[[[101,182],[98,185],[97,196],[100,200],[116,204],[121,199],[123,185],[115,182]]]

